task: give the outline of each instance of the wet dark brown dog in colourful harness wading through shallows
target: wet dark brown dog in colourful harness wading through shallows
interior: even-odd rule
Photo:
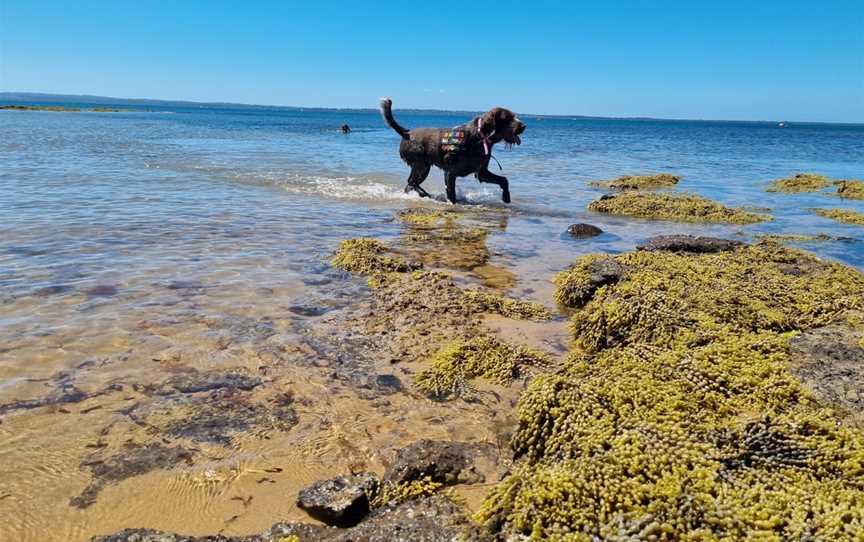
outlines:
[[[501,187],[501,199],[510,203],[510,182],[507,177],[489,171],[492,147],[504,141],[508,145],[521,145],[519,137],[525,123],[516,114],[503,107],[495,107],[455,128],[415,128],[407,130],[393,118],[393,101],[381,100],[381,114],[387,124],[402,138],[399,156],[411,168],[405,193],[412,190],[421,197],[429,197],[420,185],[433,165],[444,171],[447,200],[456,203],[456,178],[474,174],[481,183]]]

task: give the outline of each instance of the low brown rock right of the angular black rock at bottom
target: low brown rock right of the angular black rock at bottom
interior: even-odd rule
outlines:
[[[480,451],[480,446],[467,442],[418,440],[396,452],[384,482],[399,484],[426,477],[445,485],[482,482],[485,478],[474,465]]]

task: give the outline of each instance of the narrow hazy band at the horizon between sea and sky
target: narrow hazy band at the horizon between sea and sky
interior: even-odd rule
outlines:
[[[99,94],[63,94],[57,92],[28,92],[28,91],[2,91],[0,92],[0,97],[5,97],[7,95],[20,95],[20,96],[33,96],[33,97],[54,97],[54,98],[89,98],[91,100],[95,99],[103,99],[103,100],[113,100],[116,102],[147,102],[153,105],[157,104],[191,104],[196,106],[240,106],[240,107],[251,107],[251,108],[271,108],[271,109],[293,109],[293,110],[314,110],[314,111],[362,111],[362,112],[372,112],[379,111],[377,107],[323,107],[323,106],[298,106],[298,105],[277,105],[277,104],[251,104],[251,103],[243,103],[243,102],[225,102],[225,101],[195,101],[195,100],[172,100],[165,98],[121,98],[116,96],[102,96]],[[8,98],[14,99],[14,98]],[[21,101],[26,101],[26,98],[19,98]],[[106,104],[107,105],[107,104]],[[476,114],[482,113],[482,110],[471,110],[471,109],[433,109],[433,108],[402,108],[401,111],[408,112],[423,112],[423,113],[466,113],[466,114]],[[650,116],[635,116],[635,117],[615,117],[615,116],[604,116],[604,115],[580,115],[580,114],[544,114],[544,113],[520,113],[520,115],[525,117],[533,117],[533,118],[555,118],[555,119],[603,119],[603,120],[667,120],[667,121],[681,121],[681,122],[740,122],[740,123],[752,123],[752,124],[760,124],[760,123],[795,123],[795,124],[832,124],[832,125],[846,125],[846,126],[862,126],[864,122],[836,122],[836,121],[795,121],[795,120],[742,120],[742,119],[691,119],[691,118],[672,118],[672,117],[650,117]]]

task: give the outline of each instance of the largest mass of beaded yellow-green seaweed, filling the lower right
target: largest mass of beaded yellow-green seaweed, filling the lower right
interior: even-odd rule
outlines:
[[[521,460],[477,519],[533,540],[860,540],[864,436],[790,374],[787,339],[860,312],[864,276],[768,243],[615,260],[577,303],[584,350],[520,399]]]

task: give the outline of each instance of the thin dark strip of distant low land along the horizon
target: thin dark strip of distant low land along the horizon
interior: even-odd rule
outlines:
[[[137,106],[159,106],[159,107],[190,107],[211,109],[261,109],[277,111],[309,111],[309,112],[356,112],[376,113],[377,108],[351,108],[351,107],[299,107],[290,105],[260,105],[244,104],[235,102],[193,102],[188,100],[161,100],[150,98],[116,98],[110,96],[95,96],[91,94],[47,94],[41,92],[0,92],[0,102],[30,102],[38,103],[75,103],[94,105],[137,105]],[[432,115],[476,115],[482,111],[451,110],[451,109],[412,109],[399,108],[408,114],[432,114]],[[776,120],[735,120],[735,119],[673,119],[663,117],[606,117],[592,115],[545,115],[541,113],[522,113],[521,116],[533,119],[563,119],[563,120],[616,120],[616,121],[668,121],[668,122],[712,122],[712,123],[741,123],[741,124],[776,124],[784,122],[786,125],[830,125],[830,126],[864,126],[858,122],[819,122],[819,121],[794,121],[787,119]]]

